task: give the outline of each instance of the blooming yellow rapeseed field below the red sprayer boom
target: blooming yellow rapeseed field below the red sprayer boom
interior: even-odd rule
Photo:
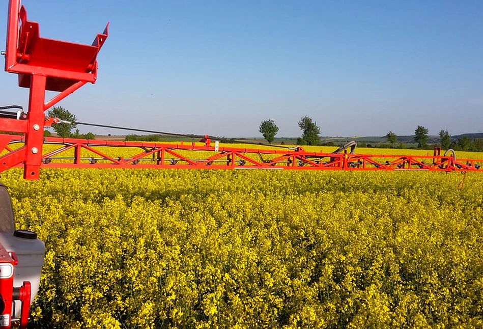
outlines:
[[[388,151],[428,152],[359,150]],[[0,178],[46,243],[33,327],[483,326],[483,173],[21,177]]]

